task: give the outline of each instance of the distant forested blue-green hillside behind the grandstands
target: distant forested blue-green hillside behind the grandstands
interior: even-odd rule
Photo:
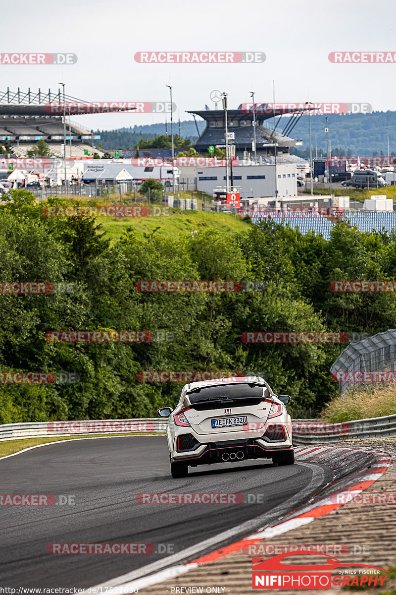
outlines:
[[[373,152],[381,154],[381,151],[388,154],[388,136],[391,153],[396,152],[396,111],[373,112],[372,114],[346,114],[329,115],[329,140],[331,152],[335,155],[334,149],[339,149],[346,155],[372,155]],[[288,118],[281,118],[277,126],[282,131]],[[272,124],[271,120],[271,124]],[[204,130],[204,121],[197,121],[201,133]],[[326,133],[325,116],[312,115],[312,146],[313,156],[316,147],[325,151]],[[178,123],[173,123],[173,132],[179,133]],[[148,124],[147,126],[134,126],[118,130],[97,130],[102,137],[104,149],[132,149],[140,139],[150,139],[157,134],[165,133],[165,124]],[[170,123],[167,123],[167,133],[170,134]],[[180,122],[180,134],[191,140],[193,144],[197,140],[197,129],[194,121]],[[303,115],[292,133],[294,139],[301,139],[304,148],[309,146],[308,115]]]

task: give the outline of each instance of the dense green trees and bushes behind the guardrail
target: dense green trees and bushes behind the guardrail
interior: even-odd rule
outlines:
[[[72,293],[0,295],[0,370],[74,372],[78,384],[0,384],[0,423],[146,417],[173,404],[175,383],[141,370],[267,374],[294,412],[337,392],[330,366],[345,345],[246,345],[245,331],[366,331],[396,327],[394,293],[335,294],[331,280],[395,277],[396,237],[345,223],[330,241],[264,222],[248,233],[202,228],[178,239],[130,230],[110,246],[97,220],[42,216],[26,190],[0,207],[6,281],[75,283]],[[61,204],[61,199],[50,199]],[[248,225],[248,224],[247,224]],[[140,293],[140,280],[262,280],[265,291]],[[172,342],[51,343],[47,331],[158,331]]]

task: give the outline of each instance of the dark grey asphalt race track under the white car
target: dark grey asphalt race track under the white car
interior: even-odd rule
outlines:
[[[1,506],[0,586],[91,587],[258,515],[278,518],[280,508],[286,513],[307,500],[307,486],[313,493],[330,479],[319,465],[278,467],[262,459],[190,468],[189,477],[173,480],[164,436],[71,440],[29,450],[0,460],[0,493],[57,500],[61,494],[74,496],[75,504]],[[137,502],[139,493],[164,492],[243,493],[245,500],[262,494],[262,503]],[[151,543],[156,551],[164,544],[165,553],[53,555],[50,543]]]

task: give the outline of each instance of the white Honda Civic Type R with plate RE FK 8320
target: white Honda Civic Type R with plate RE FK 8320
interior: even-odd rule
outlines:
[[[292,420],[287,394],[276,395],[264,378],[244,376],[185,384],[169,417],[167,441],[172,477],[188,466],[273,459],[293,465]]]

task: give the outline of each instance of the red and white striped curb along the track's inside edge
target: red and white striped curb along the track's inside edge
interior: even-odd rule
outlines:
[[[297,462],[307,461],[311,463],[331,465],[332,468],[334,468],[334,464],[340,465],[340,467],[335,469],[335,471],[340,471],[340,469],[348,469],[350,465],[359,462],[359,459],[361,459],[362,456],[367,457],[367,455],[370,455],[372,462],[367,469],[364,469],[363,471],[360,469],[352,472],[351,474],[346,473],[344,477],[338,478],[340,473],[337,475],[336,472],[334,479],[324,490],[327,492],[325,497],[319,497],[319,500],[316,502],[311,502],[309,505],[297,509],[292,513],[292,516],[287,518],[285,521],[266,527],[262,531],[258,531],[257,533],[251,534],[248,537],[244,537],[243,539],[236,541],[229,546],[214,550],[213,552],[205,554],[200,558],[192,560],[192,562],[169,566],[169,568],[152,572],[145,577],[135,578],[135,580],[133,577],[139,571],[132,571],[128,574],[122,575],[121,577],[113,578],[106,583],[91,587],[90,592],[93,592],[94,588],[98,589],[99,587],[102,587],[103,589],[110,588],[112,595],[136,593],[136,589],[141,590],[146,587],[150,587],[151,585],[163,583],[163,581],[178,577],[192,569],[198,568],[198,566],[202,566],[209,562],[216,562],[216,560],[225,558],[234,552],[239,552],[240,550],[254,545],[263,539],[277,537],[283,533],[287,533],[287,531],[292,531],[293,529],[301,527],[302,525],[307,525],[316,518],[327,515],[329,512],[334,511],[335,509],[340,508],[340,506],[344,506],[346,504],[346,502],[334,502],[335,494],[340,492],[345,494],[348,492],[351,494],[351,497],[356,496],[356,494],[366,490],[374,483],[374,481],[378,480],[381,475],[387,471],[388,466],[391,464],[391,457],[387,453],[377,452],[374,450],[350,448],[343,449],[335,446],[304,446],[294,449],[294,453],[297,455]],[[347,500],[348,502],[350,501],[349,499]],[[199,544],[197,547],[199,548]],[[82,595],[85,593],[88,593],[88,591],[83,591]]]

